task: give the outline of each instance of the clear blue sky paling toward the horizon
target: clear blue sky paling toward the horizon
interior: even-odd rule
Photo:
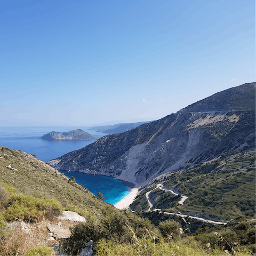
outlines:
[[[255,81],[255,0],[10,0],[0,29],[0,126],[153,121]]]

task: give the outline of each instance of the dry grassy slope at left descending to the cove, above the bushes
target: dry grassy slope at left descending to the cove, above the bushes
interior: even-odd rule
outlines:
[[[33,155],[0,147],[0,156],[0,180],[20,191],[46,198],[54,197],[64,207],[82,206],[83,211],[97,215],[109,205]],[[6,167],[9,165],[16,171]]]

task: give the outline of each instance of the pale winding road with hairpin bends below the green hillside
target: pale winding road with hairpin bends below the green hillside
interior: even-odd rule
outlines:
[[[149,199],[149,194],[155,190],[155,189],[162,189],[164,191],[169,191],[171,192],[172,194],[178,196],[179,194],[175,193],[172,189],[164,189],[163,188],[163,185],[162,184],[157,184],[156,188],[148,191],[146,193],[146,197],[147,197],[147,200],[148,200],[148,203],[149,203],[149,209],[148,211],[151,211],[151,209],[153,208],[153,204],[150,202],[150,199]],[[178,202],[179,204],[184,204],[184,201],[188,198],[187,196],[184,196],[184,195],[181,195],[181,200]],[[162,213],[161,209],[155,209],[153,211],[159,211],[159,213]],[[207,220],[207,219],[204,219],[204,218],[199,218],[199,217],[195,217],[195,216],[190,216],[190,215],[185,215],[185,214],[181,214],[181,213],[172,213],[172,212],[163,212],[164,214],[170,214],[170,215],[178,215],[180,216],[181,218],[184,218],[184,217],[188,217],[188,218],[191,218],[191,219],[196,219],[196,220],[201,220],[201,221],[204,221],[204,222],[209,222],[209,223],[214,223],[214,224],[223,224],[223,225],[226,225],[227,222],[220,222],[220,221],[214,221],[214,220]]]

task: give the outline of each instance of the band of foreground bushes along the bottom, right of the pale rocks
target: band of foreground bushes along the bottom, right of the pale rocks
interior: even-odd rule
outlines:
[[[190,223],[186,220],[187,229]],[[251,255],[255,247],[255,223],[239,217],[227,226],[198,228],[184,232],[179,221],[165,220],[154,226],[129,210],[108,207],[99,221],[87,218],[71,229],[71,237],[62,242],[68,255],[78,255],[91,239],[94,255]],[[230,255],[229,254],[229,255]]]

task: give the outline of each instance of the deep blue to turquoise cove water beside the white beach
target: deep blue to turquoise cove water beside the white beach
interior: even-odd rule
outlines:
[[[78,184],[84,185],[94,195],[97,196],[98,192],[102,193],[103,197],[105,197],[104,201],[113,205],[129,195],[132,189],[124,185],[121,180],[108,176],[85,174],[82,172],[67,172],[63,170],[58,171],[66,173],[69,178],[73,176]]]

